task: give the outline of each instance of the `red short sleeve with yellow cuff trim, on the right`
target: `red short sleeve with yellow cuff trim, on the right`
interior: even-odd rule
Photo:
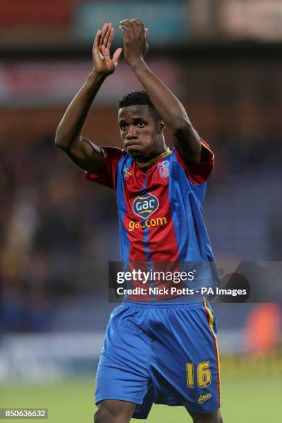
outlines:
[[[204,140],[200,140],[202,149],[200,152],[200,162],[187,162],[176,150],[176,158],[181,166],[185,169],[187,177],[194,184],[203,184],[212,173],[214,167],[214,153],[209,148],[209,145]]]

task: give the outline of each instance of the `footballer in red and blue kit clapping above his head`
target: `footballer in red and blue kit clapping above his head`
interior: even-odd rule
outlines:
[[[124,58],[144,87],[122,97],[123,148],[82,136],[97,92],[118,65],[114,30],[105,23],[93,46],[93,71],[68,106],[55,143],[87,180],[116,191],[123,262],[214,262],[202,207],[214,155],[169,88],[144,61],[147,29],[120,22]],[[164,140],[173,133],[174,147]],[[106,130],[106,128],[105,128]],[[111,314],[97,368],[94,421],[146,419],[153,403],[185,406],[197,423],[222,423],[216,319],[207,300],[130,297]]]

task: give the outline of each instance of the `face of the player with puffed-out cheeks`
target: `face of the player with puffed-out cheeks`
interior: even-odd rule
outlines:
[[[160,130],[147,104],[120,108],[118,123],[124,147],[133,159],[146,162],[159,154]]]

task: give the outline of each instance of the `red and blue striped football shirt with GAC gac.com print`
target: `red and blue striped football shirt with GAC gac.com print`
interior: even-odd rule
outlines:
[[[176,149],[147,163],[123,149],[103,151],[100,175],[84,176],[116,191],[122,261],[214,261],[202,215],[214,154],[204,141],[196,164]]]

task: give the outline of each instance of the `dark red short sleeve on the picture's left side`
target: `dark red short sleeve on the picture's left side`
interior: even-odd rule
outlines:
[[[101,147],[101,149],[104,153],[105,162],[100,171],[100,174],[96,175],[95,173],[84,171],[84,178],[87,180],[92,180],[93,182],[97,182],[98,184],[104,185],[105,187],[115,189],[118,162],[120,161],[124,150],[115,147]]]

